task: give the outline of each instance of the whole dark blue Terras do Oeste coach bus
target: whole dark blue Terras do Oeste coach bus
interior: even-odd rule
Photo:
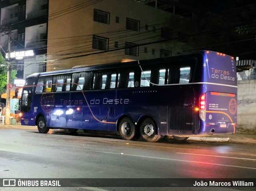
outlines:
[[[124,140],[235,133],[234,58],[214,51],[120,62],[26,78],[22,125],[116,131]]]

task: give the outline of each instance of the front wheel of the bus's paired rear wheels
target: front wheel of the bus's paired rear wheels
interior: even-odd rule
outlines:
[[[119,135],[124,140],[133,140],[136,136],[136,127],[131,118],[123,118],[118,127]]]

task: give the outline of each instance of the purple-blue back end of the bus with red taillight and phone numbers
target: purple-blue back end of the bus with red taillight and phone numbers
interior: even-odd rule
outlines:
[[[237,79],[234,58],[205,51],[204,86],[199,98],[198,134],[235,133],[237,123]]]

